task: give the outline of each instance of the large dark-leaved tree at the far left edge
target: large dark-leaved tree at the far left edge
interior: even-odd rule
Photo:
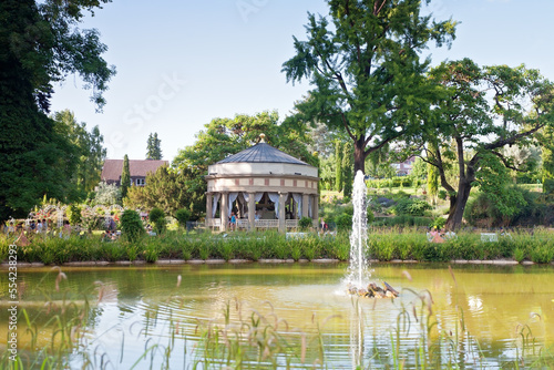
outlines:
[[[48,194],[71,201],[74,147],[44,113],[52,83],[79,73],[99,110],[115,73],[95,30],[76,25],[83,10],[109,0],[0,2],[0,219],[21,216]]]

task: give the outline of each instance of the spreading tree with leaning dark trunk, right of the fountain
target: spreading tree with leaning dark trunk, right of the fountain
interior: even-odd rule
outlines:
[[[420,131],[429,143],[422,158],[439,171],[450,198],[447,227],[458,229],[473,186],[492,191],[488,183],[494,182],[495,201],[510,204],[507,184],[497,183],[505,176],[500,176],[491,156],[517,169],[501,148],[526,144],[536,132],[552,125],[554,85],[523,65],[480,68],[469,59],[440,64],[431,71],[430,80],[444,95]],[[448,161],[455,163],[458,184],[447,177]]]

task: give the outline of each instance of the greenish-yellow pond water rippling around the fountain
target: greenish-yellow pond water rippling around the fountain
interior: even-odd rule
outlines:
[[[202,357],[196,349],[201,336],[198,322],[223,325],[227,307],[232,322],[249,319],[255,311],[268,323],[279,320],[281,330],[290,335],[312,336],[319,327],[325,367],[329,369],[393,364],[386,353],[392,350],[391,333],[406,310],[411,329],[402,333],[400,350],[404,352],[400,357],[407,358],[409,368],[413,361],[409,353],[421,338],[412,312],[414,305],[421,306],[419,295],[431,297],[433,318],[440,330],[455,337],[456,323],[463,321],[466,332],[459,335],[454,350],[461,368],[481,368],[483,363],[488,369],[504,368],[521,356],[524,345],[521,332],[532,332],[527,338],[533,338],[534,343],[526,347],[527,352],[541,348],[554,350],[553,266],[454,265],[451,274],[448,265],[373,264],[372,280],[384,280],[401,291],[394,300],[346,295],[342,280],[347,267],[347,264],[256,263],[65,267],[62,270],[66,279],[59,282],[59,291],[55,290],[58,271],[20,268],[20,310],[27,308],[41,327],[50,315],[44,310],[45,299],[58,304],[72,299],[76,305],[88,299],[90,319],[85,345],[79,351],[96,361],[95,367],[104,363],[107,369],[129,369],[137,360],[136,369],[148,368],[151,356],[140,360],[141,356],[158,345],[157,354],[164,358],[162,348],[170,342],[172,332],[175,340],[170,368],[192,368],[194,360]],[[0,346],[3,347],[9,281],[7,270],[0,273]],[[18,323],[20,348],[29,342],[22,321],[20,318]],[[39,347],[48,345],[51,337],[52,330],[41,329]],[[381,356],[376,356],[378,352]],[[33,356],[32,351],[25,353]],[[315,358],[308,351],[307,363]],[[71,368],[80,368],[82,356],[75,351],[71,358]],[[475,359],[480,359],[479,364]],[[298,359],[293,362],[293,367],[302,367]],[[162,360],[153,363],[160,368]]]

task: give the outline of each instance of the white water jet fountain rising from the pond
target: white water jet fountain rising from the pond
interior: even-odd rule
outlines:
[[[350,234],[350,265],[348,266],[348,292],[363,297],[398,297],[398,291],[383,281],[384,288],[369,282],[371,274],[367,266],[366,248],[368,245],[367,187],[365,176],[358,171],[352,188],[352,233]]]

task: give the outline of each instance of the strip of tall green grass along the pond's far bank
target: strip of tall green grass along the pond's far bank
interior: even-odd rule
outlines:
[[[9,240],[0,237],[0,259],[8,258]],[[61,265],[70,261],[119,261],[158,259],[319,259],[348,260],[348,232],[337,235],[308,233],[307,237],[287,239],[276,232],[228,233],[226,235],[166,232],[136,241],[101,241],[98,236],[35,237],[29,246],[18,248],[18,260]],[[369,230],[367,257],[389,261],[414,259],[450,261],[453,259],[513,259],[547,264],[554,260],[554,233],[537,228],[532,233],[512,232],[499,241],[482,241],[479,233],[461,232],[442,244],[427,240],[418,227],[372,228]]]

